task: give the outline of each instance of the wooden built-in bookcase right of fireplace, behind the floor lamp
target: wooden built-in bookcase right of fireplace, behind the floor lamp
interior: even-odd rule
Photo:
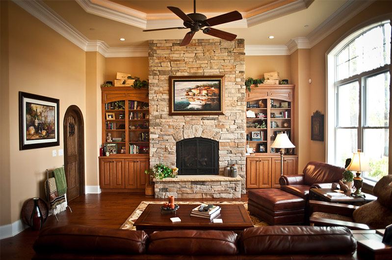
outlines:
[[[247,188],[279,188],[279,149],[271,147],[280,132],[294,143],[294,85],[251,86],[246,92]],[[252,118],[254,112],[256,118]],[[295,149],[286,149],[284,174],[297,174]]]

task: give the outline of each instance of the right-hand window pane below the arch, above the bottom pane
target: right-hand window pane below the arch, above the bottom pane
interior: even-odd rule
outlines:
[[[389,124],[389,78],[389,72],[385,72],[366,79],[367,126]]]

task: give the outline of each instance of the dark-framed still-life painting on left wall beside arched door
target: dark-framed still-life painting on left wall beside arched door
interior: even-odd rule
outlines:
[[[60,100],[19,92],[19,150],[60,145]]]

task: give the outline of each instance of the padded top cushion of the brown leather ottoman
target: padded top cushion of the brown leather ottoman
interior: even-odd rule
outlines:
[[[304,199],[280,189],[250,190],[248,198],[273,212],[305,208]]]

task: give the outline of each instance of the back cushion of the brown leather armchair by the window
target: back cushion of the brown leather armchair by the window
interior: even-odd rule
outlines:
[[[333,183],[342,178],[345,169],[321,162],[309,162],[304,170],[304,184]]]

